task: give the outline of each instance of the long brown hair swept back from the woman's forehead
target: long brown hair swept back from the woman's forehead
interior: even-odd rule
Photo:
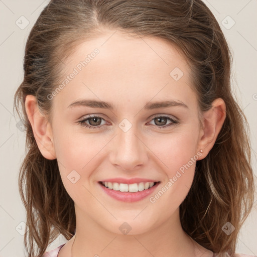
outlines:
[[[207,157],[197,161],[193,185],[180,205],[180,219],[200,245],[234,255],[239,229],[253,205],[253,173],[248,123],[230,88],[231,53],[211,11],[200,0],[52,0],[29,35],[24,80],[15,94],[15,108],[19,113],[22,107],[19,115],[27,133],[19,188],[27,210],[29,230],[24,241],[29,257],[42,256],[60,233],[69,240],[76,220],[57,160],[45,159],[36,144],[25,97],[36,96],[50,120],[52,105],[47,95],[60,82],[61,62],[78,42],[99,35],[104,28],[175,44],[191,67],[201,111],[216,98],[225,101],[224,124]],[[230,235],[221,229],[226,222],[235,227]]]

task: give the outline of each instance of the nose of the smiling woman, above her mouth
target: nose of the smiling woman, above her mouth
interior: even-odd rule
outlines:
[[[118,130],[117,133],[109,155],[111,164],[125,171],[133,171],[145,165],[148,161],[148,148],[134,126],[127,132]]]

